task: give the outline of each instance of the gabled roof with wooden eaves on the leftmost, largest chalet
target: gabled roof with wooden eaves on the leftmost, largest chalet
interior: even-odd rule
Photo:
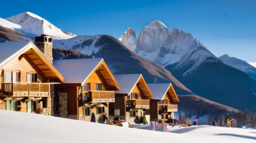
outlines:
[[[35,68],[37,72],[40,72],[39,74],[41,74],[41,76],[44,76],[44,73],[40,71],[39,66],[33,63],[33,61],[30,59],[28,56],[29,54],[25,54],[29,52],[36,56],[36,58],[38,58],[38,60],[43,63],[43,66],[51,70],[52,74],[60,79],[61,82],[64,80],[60,72],[57,71],[57,69],[51,64],[51,62],[44,56],[44,54],[36,47],[32,41],[0,43],[0,51],[0,69],[8,62],[10,62],[14,57],[19,56],[19,59],[24,57],[26,60],[29,60],[29,64],[33,64],[33,68]]]

